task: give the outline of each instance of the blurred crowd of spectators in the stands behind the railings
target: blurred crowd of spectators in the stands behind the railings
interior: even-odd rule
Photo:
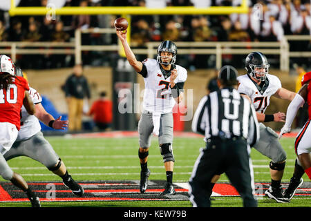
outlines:
[[[21,0],[19,6],[44,6],[47,0]],[[238,6],[241,0],[67,0],[65,6]],[[259,17],[259,19],[258,19]],[[113,28],[114,15],[9,17],[0,13],[0,41],[73,41],[77,28]],[[249,14],[131,16],[131,43],[148,41],[281,41],[284,35],[311,35],[310,0],[249,0]],[[117,44],[113,34],[83,34],[82,44]],[[292,51],[310,51],[310,41],[290,41]],[[84,65],[110,66],[117,52],[85,51]],[[32,58],[30,58],[32,57]],[[144,59],[145,55],[139,59]],[[276,56],[272,56],[275,58]],[[268,56],[269,58],[269,56]],[[276,57],[278,58],[278,57]],[[29,60],[37,62],[29,62]],[[214,68],[214,55],[178,56],[186,68]],[[279,59],[276,59],[279,60]],[[240,55],[223,55],[224,64],[241,64]],[[292,63],[310,64],[309,58]],[[22,68],[59,68],[74,65],[73,55],[18,55]],[[242,66],[243,64],[241,64]],[[273,65],[273,62],[272,62]],[[276,67],[279,64],[276,64]],[[238,67],[237,67],[238,68]]]

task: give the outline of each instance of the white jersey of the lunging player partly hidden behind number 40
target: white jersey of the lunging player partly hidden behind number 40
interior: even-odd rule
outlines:
[[[34,104],[39,104],[42,102],[42,98],[34,88],[30,88],[29,95]],[[26,140],[36,133],[41,131],[41,126],[39,119],[35,115],[30,115],[27,113],[24,106],[21,107],[21,129],[19,130],[19,135],[17,136],[17,141]]]

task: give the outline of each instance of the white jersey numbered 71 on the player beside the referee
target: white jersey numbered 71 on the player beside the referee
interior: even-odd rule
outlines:
[[[237,79],[239,83],[238,92],[247,95],[252,100],[258,113],[265,113],[270,104],[270,97],[282,87],[279,78],[269,74],[267,75],[269,84],[263,90],[260,90],[248,75],[239,76]]]

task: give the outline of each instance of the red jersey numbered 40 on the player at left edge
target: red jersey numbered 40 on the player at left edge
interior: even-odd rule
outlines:
[[[17,130],[21,127],[21,106],[25,90],[29,90],[29,85],[23,77],[13,78],[8,90],[0,90],[0,122],[15,124]]]

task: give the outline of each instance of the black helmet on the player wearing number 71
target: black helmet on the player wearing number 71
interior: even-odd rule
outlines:
[[[263,55],[261,52],[252,52],[247,55],[245,59],[245,69],[247,70],[247,75],[250,77],[254,77],[259,81],[265,81],[267,77],[267,73],[269,73],[270,64],[267,62],[267,57]],[[261,73],[256,73],[255,68],[265,68],[265,73],[261,75]],[[261,75],[260,77],[256,77],[256,74]]]

